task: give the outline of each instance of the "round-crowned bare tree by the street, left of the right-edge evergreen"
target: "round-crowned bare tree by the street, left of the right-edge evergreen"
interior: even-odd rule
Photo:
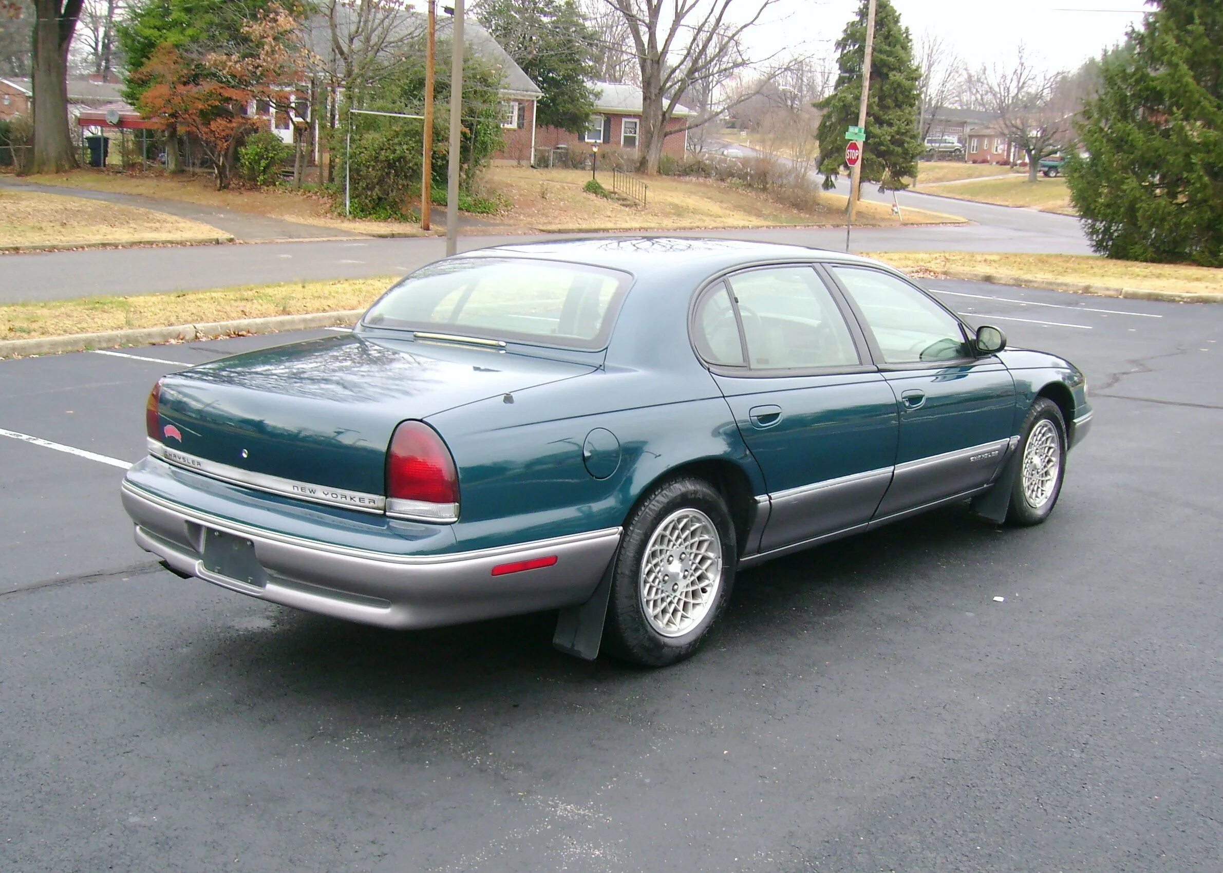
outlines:
[[[1063,87],[1065,73],[1037,67],[1020,46],[1013,65],[982,65],[974,78],[1002,133],[1027,157],[1027,181],[1035,182],[1041,159],[1071,137],[1076,108]]]

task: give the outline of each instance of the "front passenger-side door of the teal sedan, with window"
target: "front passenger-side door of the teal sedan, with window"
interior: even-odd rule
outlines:
[[[1007,456],[1015,383],[976,356],[959,318],[921,289],[872,267],[829,264],[895,395],[900,440],[878,518],[988,484]]]

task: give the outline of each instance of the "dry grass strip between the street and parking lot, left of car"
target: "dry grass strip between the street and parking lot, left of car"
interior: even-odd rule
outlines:
[[[396,280],[341,279],[0,306],[0,340],[363,309]]]

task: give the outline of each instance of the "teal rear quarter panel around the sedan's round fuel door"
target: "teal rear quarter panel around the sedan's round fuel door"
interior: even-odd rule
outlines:
[[[729,461],[752,493],[764,492],[730,407],[689,341],[689,303],[703,278],[680,273],[635,287],[603,369],[427,419],[459,467],[456,549],[620,526],[651,483],[695,461]],[[582,459],[596,428],[620,444],[604,479]]]

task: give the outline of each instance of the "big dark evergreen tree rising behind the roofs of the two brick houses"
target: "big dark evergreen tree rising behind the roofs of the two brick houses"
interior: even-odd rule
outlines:
[[[536,123],[581,133],[594,111],[594,33],[574,0],[488,0],[479,23],[539,86]]]

